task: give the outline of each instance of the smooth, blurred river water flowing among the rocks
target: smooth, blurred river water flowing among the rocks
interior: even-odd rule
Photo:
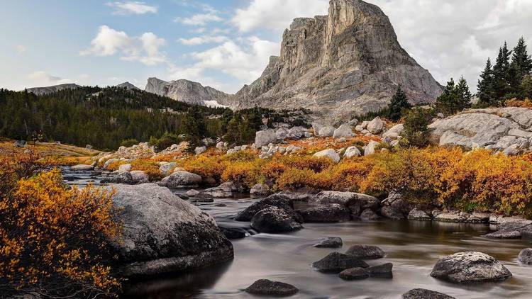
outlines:
[[[99,184],[101,175],[87,172],[65,174],[67,183]],[[69,179],[70,178],[70,179]],[[186,190],[175,191],[184,193]],[[532,298],[532,266],[517,261],[521,249],[532,247],[528,240],[486,239],[487,225],[444,222],[381,220],[333,224],[305,223],[304,229],[289,234],[256,234],[248,222],[231,218],[257,201],[250,198],[222,199],[201,203],[221,227],[240,227],[249,236],[232,240],[233,261],[194,273],[126,287],[124,298],[255,298],[243,289],[260,278],[283,281],[299,288],[291,298],[400,298],[412,288],[437,290],[455,298]],[[223,203],[225,206],[217,206]],[[341,237],[340,249],[312,247],[323,237]],[[367,261],[371,266],[391,262],[393,278],[343,281],[336,274],[324,274],[311,264],[327,254],[345,252],[354,244],[381,247],[384,259]],[[514,277],[502,283],[458,286],[431,278],[429,273],[440,256],[463,251],[480,251],[499,259]],[[262,297],[264,298],[264,297]]]

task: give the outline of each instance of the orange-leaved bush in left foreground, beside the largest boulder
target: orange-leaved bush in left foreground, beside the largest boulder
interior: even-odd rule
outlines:
[[[68,188],[32,157],[0,157],[0,293],[40,298],[110,297],[106,239],[118,238],[111,193]]]

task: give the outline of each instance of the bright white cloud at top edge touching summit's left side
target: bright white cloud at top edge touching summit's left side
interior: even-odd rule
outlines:
[[[248,7],[236,10],[231,23],[243,32],[283,30],[294,18],[326,15],[327,11],[327,0],[253,0]]]

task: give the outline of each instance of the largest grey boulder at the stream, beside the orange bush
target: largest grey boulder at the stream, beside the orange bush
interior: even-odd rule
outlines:
[[[233,245],[199,208],[156,184],[114,185],[123,240],[111,241],[122,276],[190,271],[233,259]]]

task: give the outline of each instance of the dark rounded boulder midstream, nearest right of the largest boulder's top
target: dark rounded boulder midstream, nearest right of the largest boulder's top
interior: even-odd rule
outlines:
[[[277,207],[268,207],[256,213],[251,218],[251,227],[257,232],[293,232],[303,228],[285,210]]]

